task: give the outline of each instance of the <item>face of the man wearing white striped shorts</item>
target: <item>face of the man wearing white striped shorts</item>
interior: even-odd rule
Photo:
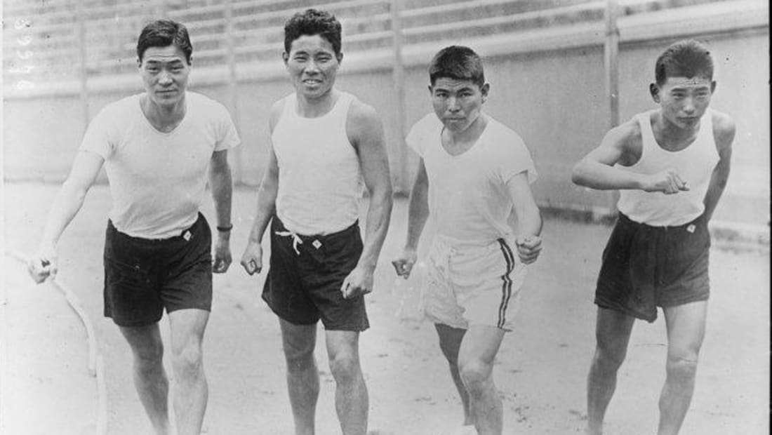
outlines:
[[[472,80],[445,77],[429,86],[437,117],[452,132],[464,131],[477,120],[488,97],[488,83],[477,86]]]

